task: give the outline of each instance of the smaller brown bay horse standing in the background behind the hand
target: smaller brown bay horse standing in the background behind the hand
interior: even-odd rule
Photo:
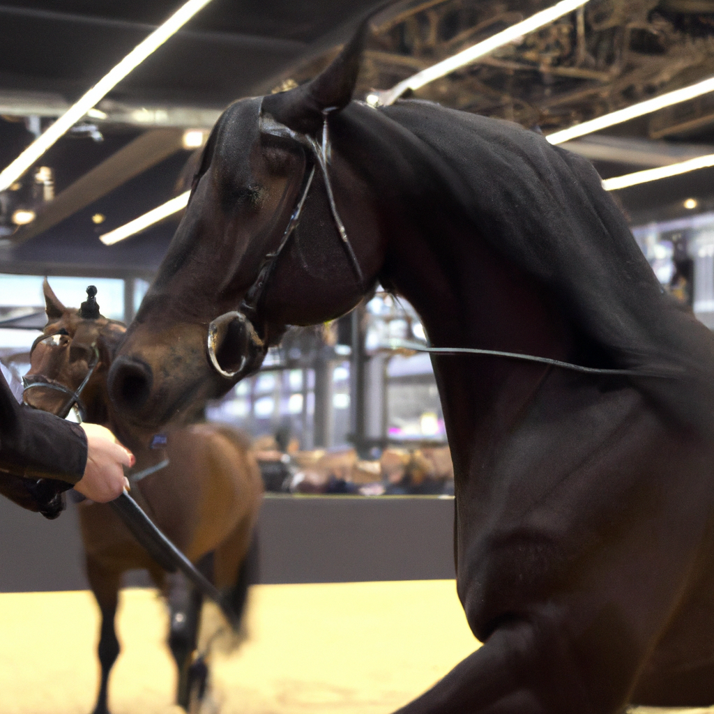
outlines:
[[[26,389],[25,401],[61,414],[67,411],[67,393],[51,386],[75,392],[86,380],[80,395],[84,421],[102,424],[131,444],[136,456],[127,473],[131,495],[217,588],[230,593],[227,601],[238,623],[255,577],[253,531],[263,493],[248,438],[226,426],[193,423],[162,435],[160,448],[136,439],[116,417],[106,393],[106,376],[125,326],[98,311],[86,318],[66,308],[47,281],[44,295],[48,322],[31,351],[26,384],[36,387]],[[182,573],[166,573],[108,503],[83,501],[78,511],[86,573],[101,610],[101,683],[94,714],[108,712],[109,673],[119,655],[114,616],[121,576],[134,569],[148,570],[166,596],[169,647],[178,668],[176,702],[193,712],[208,676],[205,659],[196,653],[201,593]]]

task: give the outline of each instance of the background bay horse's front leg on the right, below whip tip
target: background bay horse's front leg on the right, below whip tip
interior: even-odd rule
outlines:
[[[169,578],[168,599],[171,613],[169,647],[178,670],[176,703],[188,711],[191,690],[196,684],[196,679],[198,678],[199,689],[205,685],[200,681],[203,674],[201,664],[193,662],[193,654],[198,646],[198,627],[201,624],[203,596],[188,582],[183,573],[176,573]],[[196,666],[192,666],[194,664]],[[205,664],[203,666],[205,667]]]

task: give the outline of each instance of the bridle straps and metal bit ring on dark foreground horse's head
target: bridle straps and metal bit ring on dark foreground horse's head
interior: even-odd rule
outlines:
[[[360,264],[357,260],[357,256],[355,255],[349,238],[347,237],[345,225],[342,222],[342,219],[340,218],[340,214],[338,213],[337,205],[335,203],[335,196],[332,190],[332,183],[330,181],[330,175],[328,173],[328,166],[330,164],[331,158],[331,144],[328,134],[327,119],[331,111],[332,109],[326,109],[325,111],[323,111],[322,136],[321,141],[319,143],[315,139],[313,139],[312,136],[293,131],[288,126],[285,126],[284,124],[280,124],[278,121],[275,121],[271,116],[263,115],[262,108],[258,114],[258,121],[262,134],[270,134],[271,136],[279,136],[283,139],[291,139],[293,141],[298,142],[298,144],[301,144],[301,146],[304,146],[306,147],[306,149],[308,149],[310,154],[314,157],[315,161],[312,166],[306,166],[301,181],[301,188],[298,193],[298,200],[295,204],[295,208],[293,208],[290,220],[288,221],[288,224],[286,225],[285,230],[283,231],[283,236],[281,238],[280,243],[278,243],[278,247],[271,253],[267,253],[265,258],[263,258],[261,268],[258,271],[258,277],[256,278],[255,282],[253,282],[251,287],[248,288],[246,296],[241,302],[240,308],[238,309],[238,311],[224,313],[223,315],[213,320],[208,326],[208,359],[211,362],[211,366],[213,366],[213,369],[215,369],[216,372],[218,372],[218,374],[223,377],[232,379],[237,374],[241,373],[241,371],[243,371],[243,369],[246,367],[247,358],[245,355],[243,355],[241,358],[240,365],[235,370],[226,370],[220,366],[220,364],[218,363],[218,358],[216,357],[216,349],[218,349],[218,347],[220,346],[219,335],[221,333],[221,328],[226,325],[226,323],[238,321],[239,323],[241,323],[241,326],[243,326],[244,329],[248,330],[248,332],[251,333],[251,337],[253,338],[254,342],[261,343],[261,340],[258,337],[258,334],[255,329],[254,321],[258,316],[258,310],[264,299],[266,288],[268,286],[268,281],[270,281],[270,278],[273,276],[273,272],[275,271],[278,256],[280,256],[280,254],[283,252],[283,248],[285,248],[286,244],[288,243],[291,236],[298,227],[298,223],[300,223],[301,213],[303,210],[303,206],[305,205],[306,198],[308,197],[310,188],[312,186],[316,166],[319,166],[323,176],[323,181],[325,182],[325,190],[327,193],[328,203],[330,204],[330,213],[332,214],[332,218],[337,228],[337,232],[340,236],[342,245],[345,248],[353,271],[357,277],[360,288],[363,288],[364,286],[364,276],[362,273],[362,268],[360,267]]]

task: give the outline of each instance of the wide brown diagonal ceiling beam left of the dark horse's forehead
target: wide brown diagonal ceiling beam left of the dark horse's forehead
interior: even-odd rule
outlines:
[[[18,246],[39,236],[130,178],[151,169],[183,149],[182,139],[183,131],[179,129],[153,129],[141,134],[46,203],[32,223],[21,226],[10,236],[11,243]]]

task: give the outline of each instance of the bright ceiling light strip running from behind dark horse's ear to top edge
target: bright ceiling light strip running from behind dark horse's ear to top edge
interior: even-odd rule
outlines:
[[[569,12],[573,12],[573,10],[583,6],[587,1],[588,0],[561,0],[558,4],[553,5],[553,7],[537,12],[527,20],[518,22],[502,32],[498,32],[492,37],[489,37],[483,42],[479,42],[478,44],[468,47],[458,54],[447,57],[441,62],[433,64],[431,67],[427,67],[421,72],[413,74],[411,77],[408,77],[408,79],[405,79],[399,84],[393,86],[392,89],[379,93],[379,102],[380,104],[385,105],[393,104],[393,102],[408,89],[419,89],[425,84],[433,82],[435,79],[439,79],[456,69],[459,69],[467,64],[471,64],[479,57],[483,57],[484,55],[493,52],[493,50],[498,49],[509,42],[518,40],[521,36],[540,29],[563,15],[567,15]]]

